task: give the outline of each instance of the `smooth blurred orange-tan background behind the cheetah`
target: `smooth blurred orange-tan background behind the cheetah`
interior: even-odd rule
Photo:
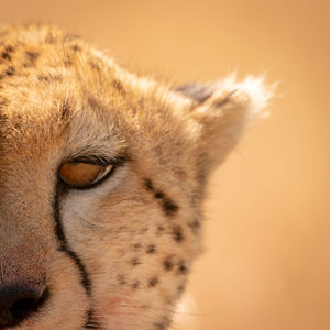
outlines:
[[[174,329],[330,329],[329,1],[0,0],[0,21],[61,25],[178,84],[279,81],[271,117],[211,179]]]

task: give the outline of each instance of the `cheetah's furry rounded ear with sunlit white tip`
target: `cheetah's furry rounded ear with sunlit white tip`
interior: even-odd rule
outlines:
[[[273,96],[263,79],[234,77],[209,85],[189,84],[176,89],[193,100],[190,116],[200,124],[200,165],[208,173],[221,164],[237,145],[245,128],[265,117],[263,111]]]

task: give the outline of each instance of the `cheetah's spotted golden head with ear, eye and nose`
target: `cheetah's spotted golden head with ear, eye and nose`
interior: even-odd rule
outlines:
[[[262,79],[155,81],[48,25],[0,30],[0,329],[168,329],[212,170]]]

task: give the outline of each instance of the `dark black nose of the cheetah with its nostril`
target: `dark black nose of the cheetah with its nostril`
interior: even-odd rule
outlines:
[[[0,330],[14,327],[37,312],[48,297],[44,285],[16,284],[0,289]]]

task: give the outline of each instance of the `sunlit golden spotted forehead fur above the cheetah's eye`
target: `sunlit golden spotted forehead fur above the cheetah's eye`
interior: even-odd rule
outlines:
[[[65,136],[67,154],[98,147],[114,155],[130,145],[132,154],[175,158],[194,148],[199,127],[188,116],[191,101],[168,87],[124,72],[58,30],[32,25],[2,35],[1,131],[11,145],[40,147]]]

